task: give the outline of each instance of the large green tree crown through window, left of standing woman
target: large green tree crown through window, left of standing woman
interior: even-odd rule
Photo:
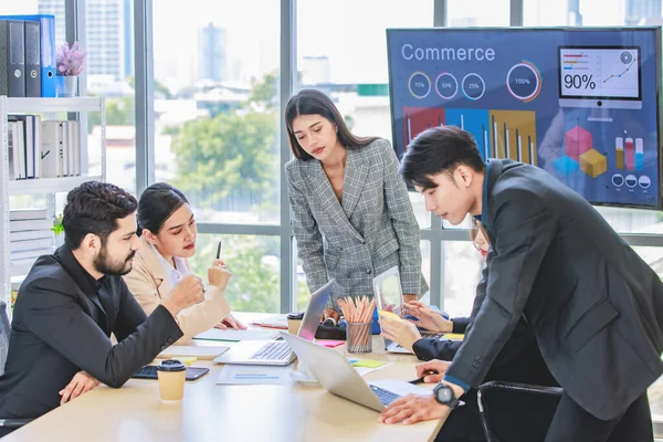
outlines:
[[[273,113],[238,112],[186,123],[171,146],[178,160],[173,185],[206,209],[218,208],[231,194],[275,200],[275,118]]]

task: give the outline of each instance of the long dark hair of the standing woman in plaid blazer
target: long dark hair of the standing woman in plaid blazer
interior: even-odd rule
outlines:
[[[338,108],[327,95],[316,90],[303,90],[298,94],[293,95],[285,105],[285,126],[287,127],[287,138],[293,155],[304,161],[314,158],[299,146],[299,141],[293,130],[293,122],[299,115],[322,115],[327,118],[333,125],[338,127],[338,140],[346,148],[366,147],[378,139],[377,137],[358,137],[352,135]]]

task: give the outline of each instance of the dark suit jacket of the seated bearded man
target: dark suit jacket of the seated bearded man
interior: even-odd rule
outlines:
[[[0,417],[36,418],[54,409],[59,391],[81,370],[120,387],[180,336],[166,308],[146,318],[122,276],[95,281],[64,245],[36,260],[19,290]]]

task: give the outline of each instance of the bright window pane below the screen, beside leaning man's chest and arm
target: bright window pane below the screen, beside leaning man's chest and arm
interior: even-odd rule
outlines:
[[[476,295],[484,260],[471,241],[443,241],[444,311],[451,317],[467,317]]]

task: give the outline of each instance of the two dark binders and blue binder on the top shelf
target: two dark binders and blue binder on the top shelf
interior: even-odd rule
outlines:
[[[55,15],[0,15],[0,95],[55,96]]]

